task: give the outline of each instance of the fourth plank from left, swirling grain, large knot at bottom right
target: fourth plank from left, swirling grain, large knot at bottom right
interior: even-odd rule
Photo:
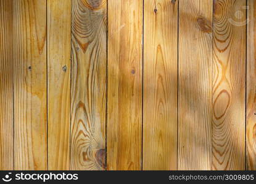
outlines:
[[[105,169],[106,1],[72,1],[71,169]]]

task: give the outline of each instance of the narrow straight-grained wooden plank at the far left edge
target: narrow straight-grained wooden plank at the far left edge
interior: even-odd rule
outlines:
[[[14,169],[12,1],[0,0],[0,170]]]

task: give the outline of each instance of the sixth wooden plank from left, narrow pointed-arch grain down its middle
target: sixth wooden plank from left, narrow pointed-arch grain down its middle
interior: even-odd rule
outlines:
[[[178,2],[144,2],[143,170],[177,169]]]

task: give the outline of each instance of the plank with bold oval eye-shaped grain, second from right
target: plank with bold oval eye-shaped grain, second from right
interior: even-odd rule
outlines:
[[[212,169],[244,169],[246,1],[214,3]],[[238,44],[239,43],[239,44]]]

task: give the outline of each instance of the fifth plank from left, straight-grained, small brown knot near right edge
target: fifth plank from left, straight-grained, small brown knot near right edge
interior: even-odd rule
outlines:
[[[108,170],[141,169],[142,13],[142,0],[108,1]]]

